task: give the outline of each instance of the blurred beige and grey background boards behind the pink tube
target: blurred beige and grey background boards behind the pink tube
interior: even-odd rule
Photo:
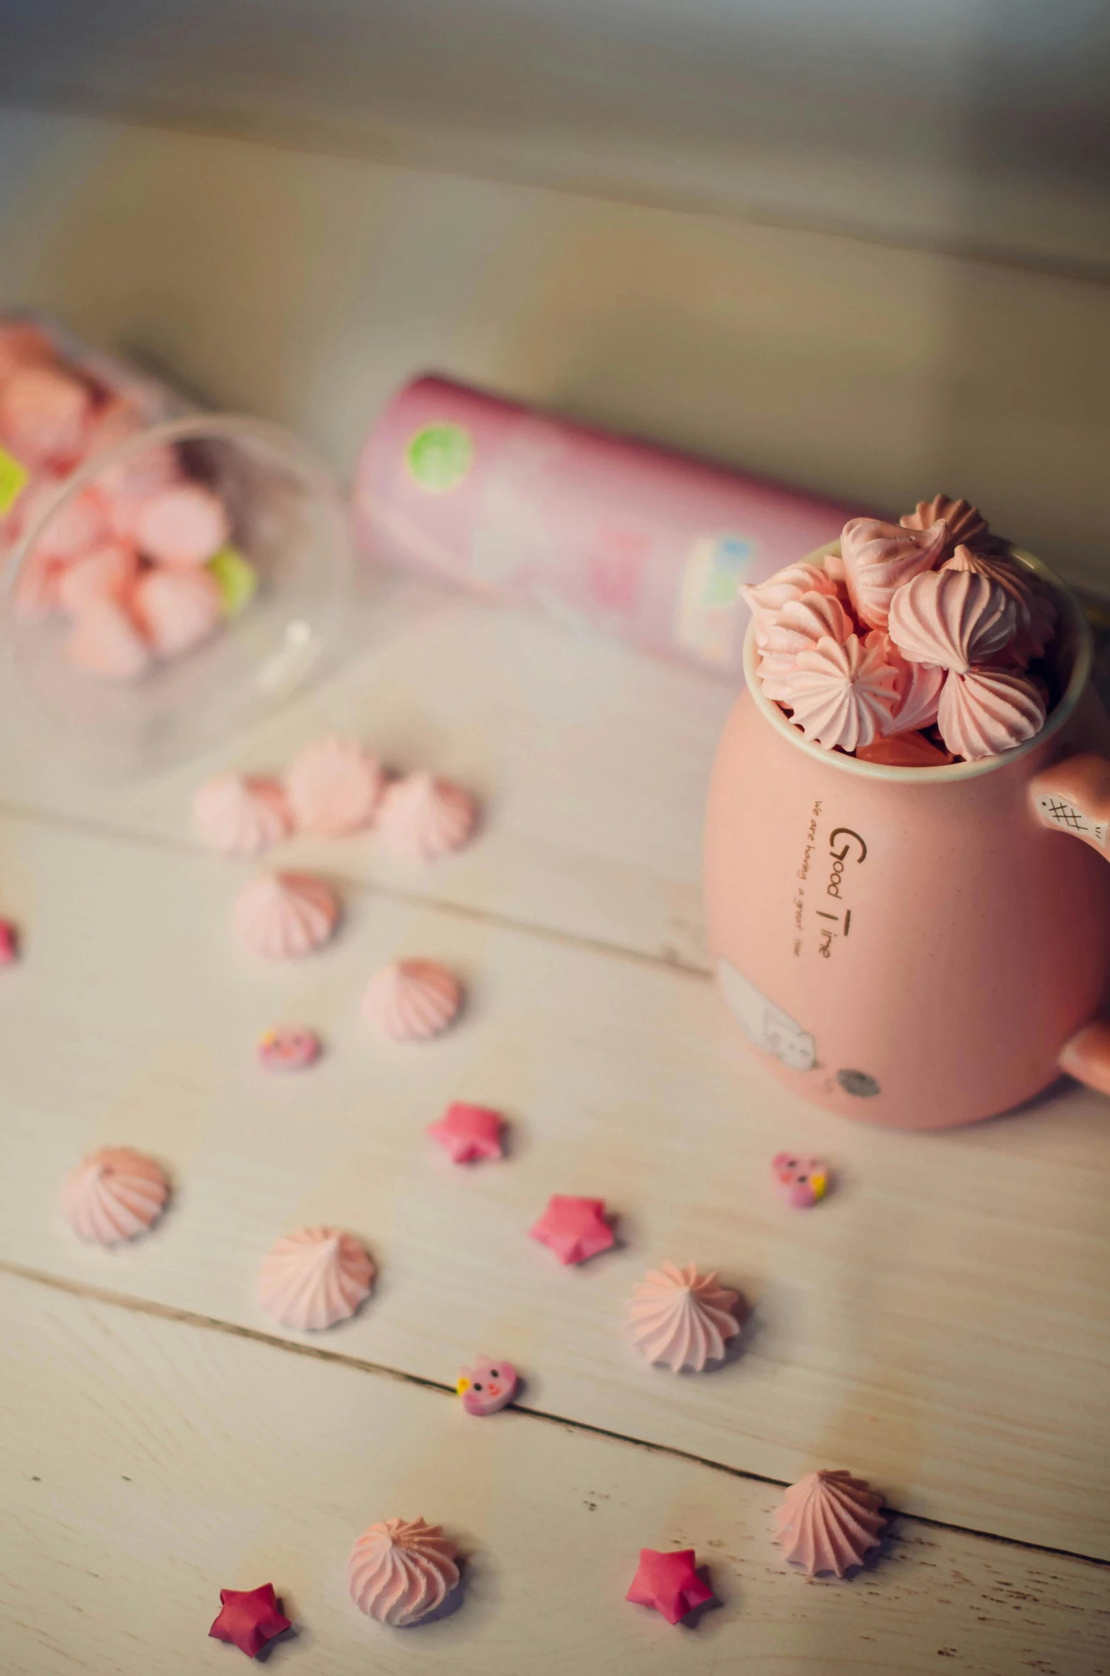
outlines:
[[[438,365],[880,508],[962,491],[1110,587],[1105,0],[0,0],[0,32],[2,300],[340,466]]]

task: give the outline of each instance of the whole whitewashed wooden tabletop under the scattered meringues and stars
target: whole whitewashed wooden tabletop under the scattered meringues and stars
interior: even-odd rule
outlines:
[[[1110,1108],[1061,1088],[947,1135],[852,1126],[783,1093],[708,979],[701,806],[731,694],[682,669],[411,583],[369,590],[329,684],[158,781],[79,784],[0,747],[0,1669],[235,1671],[221,1587],[272,1580],[288,1676],[1110,1671]],[[280,769],[320,727],[485,799],[434,868],[372,838],[297,840],[337,880],[335,945],[263,969],[235,949],[246,868],[203,853],[213,768]],[[359,1016],[397,954],[464,975],[463,1022],[382,1046]],[[302,1078],[258,1032],[314,1024]],[[451,1098],[511,1118],[510,1156],[453,1168]],[[104,1143],[174,1198],[134,1247],[82,1247],[59,1187]],[[781,1146],[830,1160],[810,1213]],[[560,1269],[526,1237],[552,1192],[605,1197],[619,1249]],[[282,1230],[332,1222],[379,1264],[367,1307],[283,1332],[253,1296]],[[635,1279],[721,1269],[753,1317],[716,1373],[622,1334]],[[454,1378],[515,1361],[478,1421]],[[843,1584],[768,1540],[781,1485],[848,1466],[897,1510]],[[352,1539],[423,1513],[466,1554],[459,1611],[412,1631],[345,1594]],[[719,1606],[625,1604],[641,1547],[689,1544]],[[245,1668],[245,1666],[243,1666]]]

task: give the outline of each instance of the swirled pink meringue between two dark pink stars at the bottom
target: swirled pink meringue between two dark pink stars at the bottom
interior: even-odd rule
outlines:
[[[458,1585],[458,1549],[443,1525],[386,1518],[357,1539],[347,1562],[350,1599],[379,1624],[418,1624]]]

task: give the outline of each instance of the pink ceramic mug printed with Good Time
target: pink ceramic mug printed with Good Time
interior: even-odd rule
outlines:
[[[750,627],[713,774],[728,1006],[790,1088],[895,1128],[1008,1111],[1061,1069],[1110,1091],[1110,721],[1078,602],[1013,553],[1060,588],[1066,685],[1035,739],[951,768],[807,744],[760,687]]]

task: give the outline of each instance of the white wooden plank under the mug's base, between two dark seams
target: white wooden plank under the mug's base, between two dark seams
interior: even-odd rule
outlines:
[[[329,1348],[436,1381],[480,1349],[526,1403],[790,1480],[847,1460],[909,1512],[1110,1555],[1107,1104],[1071,1089],[946,1135],[847,1125],[748,1058],[698,974],[345,887],[332,950],[263,969],[230,942],[241,873],[218,858],[3,821],[0,1255],[250,1327],[282,1230],[335,1222],[381,1264]],[[359,1017],[396,954],[466,979],[423,1048]],[[257,1034],[324,1031],[325,1061],[267,1078]],[[451,1098],[503,1108],[511,1156],[451,1168],[423,1126]],[[101,1143],[168,1163],[164,1227],[89,1250],[57,1212]],[[827,1156],[812,1213],[770,1192],[783,1145]],[[552,1192],[604,1195],[620,1249],[560,1269],[526,1230]],[[755,1306],[741,1354],[674,1378],[622,1334],[661,1259],[719,1267]]]

